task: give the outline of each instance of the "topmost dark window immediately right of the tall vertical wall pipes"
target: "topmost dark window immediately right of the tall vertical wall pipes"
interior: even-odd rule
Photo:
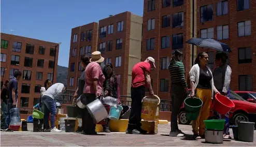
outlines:
[[[201,7],[201,22],[207,22],[214,19],[214,8],[212,5]]]

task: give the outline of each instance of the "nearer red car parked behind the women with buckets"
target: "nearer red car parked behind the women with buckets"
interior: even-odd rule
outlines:
[[[189,90],[188,93],[190,93],[191,90]],[[240,121],[245,122],[254,122],[256,123],[256,104],[252,102],[248,102],[245,99],[241,98],[239,95],[237,95],[235,92],[230,92],[230,99],[234,102],[235,108],[230,110],[230,123],[233,125],[237,125]],[[210,106],[210,116],[214,116],[212,113],[212,104]],[[180,108],[179,116],[178,116],[179,124],[188,125],[191,123],[190,120],[186,117],[186,110],[184,108],[184,102]],[[256,127],[256,126],[255,126]]]

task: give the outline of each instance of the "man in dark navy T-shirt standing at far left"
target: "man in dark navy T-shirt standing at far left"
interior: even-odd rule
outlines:
[[[8,129],[10,125],[10,110],[12,108],[16,108],[18,104],[18,81],[20,80],[21,76],[21,71],[15,71],[14,78],[12,78],[9,82],[5,129]]]

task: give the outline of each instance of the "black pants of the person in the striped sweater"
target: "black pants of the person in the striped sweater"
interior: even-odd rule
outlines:
[[[172,116],[170,117],[170,130],[178,130],[177,115],[179,114],[182,102],[186,99],[187,93],[185,93],[184,87],[181,84],[172,84],[170,87],[170,95],[172,98]]]

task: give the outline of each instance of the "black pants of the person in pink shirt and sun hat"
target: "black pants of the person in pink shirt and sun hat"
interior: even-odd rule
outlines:
[[[92,101],[94,101],[96,99],[95,94],[91,94],[91,93],[84,93],[84,96],[82,96],[81,98],[81,102],[84,105],[90,104]],[[93,120],[93,117],[90,115],[89,111],[87,110],[87,108],[84,109],[84,111],[82,111],[82,128],[84,133],[94,133],[95,132],[95,128],[96,128],[96,124]]]

